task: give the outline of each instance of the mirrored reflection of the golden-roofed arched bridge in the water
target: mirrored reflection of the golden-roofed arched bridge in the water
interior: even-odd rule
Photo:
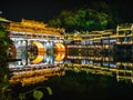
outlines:
[[[48,80],[52,76],[63,76],[64,57],[65,52],[57,52],[54,56],[53,53],[38,51],[28,53],[18,52],[16,58],[19,61],[9,63],[9,68],[13,74],[10,82],[28,86]]]

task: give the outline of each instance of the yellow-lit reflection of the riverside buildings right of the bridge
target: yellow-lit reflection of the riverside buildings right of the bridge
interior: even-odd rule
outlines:
[[[129,57],[66,56],[68,70],[86,71],[94,74],[116,76],[117,81],[133,82],[133,62]]]

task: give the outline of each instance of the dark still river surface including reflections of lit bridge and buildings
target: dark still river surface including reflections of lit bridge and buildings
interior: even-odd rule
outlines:
[[[30,87],[47,80],[44,86],[52,87],[54,91],[52,99],[62,96],[60,99],[63,100],[88,100],[90,98],[106,100],[112,98],[112,94],[121,98],[121,93],[127,93],[125,89],[133,89],[132,57],[85,56],[82,52],[83,50],[75,54],[69,52],[18,52],[17,59],[20,61],[9,64],[13,72],[10,82]],[[123,84],[123,82],[130,83],[130,86]],[[121,87],[124,89],[121,90]],[[129,97],[130,94],[127,93]],[[31,97],[27,98],[31,99]]]

